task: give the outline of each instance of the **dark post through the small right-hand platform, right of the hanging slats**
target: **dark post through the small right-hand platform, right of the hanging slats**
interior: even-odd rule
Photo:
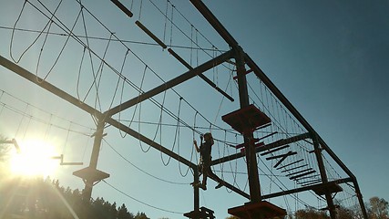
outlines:
[[[322,177],[322,183],[328,183],[327,173],[325,172],[324,162],[322,162],[322,148],[318,140],[316,133],[312,134],[314,154],[316,155],[316,160],[319,165],[320,176]],[[328,210],[330,211],[330,216],[332,219],[336,218],[335,205],[333,204],[333,197],[331,193],[325,193],[325,200],[327,201]]]

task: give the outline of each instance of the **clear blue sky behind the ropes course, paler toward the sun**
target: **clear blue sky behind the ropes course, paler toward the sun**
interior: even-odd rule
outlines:
[[[55,11],[59,3],[42,2],[50,11]],[[202,48],[229,50],[189,1],[169,0],[168,7],[166,1],[143,0],[134,1],[133,4],[131,1],[123,1],[123,4],[132,9],[132,18],[126,17],[110,1],[98,0],[93,1],[93,4],[91,1],[82,1],[87,10],[107,26],[109,31],[87,11],[83,10],[79,14],[80,6],[77,1],[65,1],[56,11],[58,20],[68,29],[76,24],[73,32],[80,36],[80,41],[88,44],[109,65],[104,65],[101,70],[98,58],[90,55],[93,57],[92,69],[88,50],[84,50],[72,37],[67,41],[67,36],[43,33],[33,43],[46,24],[48,25],[43,32],[48,28],[52,33],[64,33],[65,30],[56,26],[60,24],[57,19],[54,19],[51,26],[47,23],[47,17],[32,6],[36,5],[48,15],[39,1],[27,3],[22,11],[23,3],[24,1],[7,1],[0,8],[0,55],[11,59],[12,54],[17,60],[26,51],[18,63],[20,66],[40,78],[46,77],[56,87],[101,111],[138,95],[138,90],[130,85],[122,86],[123,80],[118,80],[118,72],[115,73],[110,67],[122,72],[129,81],[145,91],[162,84],[160,78],[168,81],[187,70],[161,47],[136,43],[155,43],[134,24],[136,20],[148,26],[169,47],[173,45],[172,48],[193,67],[210,57],[220,55],[220,52],[212,50],[194,49],[195,44]],[[156,4],[160,11],[151,3]],[[389,181],[389,149],[385,135],[389,132],[389,2],[207,0],[204,3],[354,173],[364,200],[379,196],[388,201],[386,182]],[[171,4],[175,5],[173,13]],[[173,22],[177,26],[171,27],[169,19],[162,15],[166,12],[169,19],[173,16]],[[37,33],[15,29],[13,36],[14,26],[24,30],[37,30]],[[85,29],[88,40],[81,37],[86,36]],[[121,44],[107,40],[110,37],[128,41]],[[27,49],[31,44],[33,46]],[[128,48],[130,50],[127,54]],[[50,70],[52,66],[54,68]],[[122,66],[124,68],[120,70]],[[233,103],[222,99],[219,93],[200,78],[184,82],[175,91],[161,93],[155,100],[189,126],[198,127],[199,132],[207,131],[201,127],[210,127],[209,121],[213,125],[229,129],[220,117],[237,110],[239,101],[235,84],[231,85],[229,81],[232,67],[226,66],[227,68],[210,70],[205,75],[220,89],[225,89],[235,99]],[[97,75],[95,83],[93,74]],[[254,84],[256,78],[252,74],[250,77],[249,82]],[[88,92],[89,88],[91,91]],[[20,140],[28,139],[28,135],[43,136],[57,144],[56,151],[63,153],[65,160],[84,162],[83,167],[87,166],[93,139],[79,132],[90,134],[96,129],[91,116],[3,67],[0,68],[0,89],[5,91],[0,98],[3,106],[0,113],[0,134]],[[96,94],[100,101],[96,100]],[[179,100],[179,97],[183,99]],[[277,103],[275,105],[278,106]],[[26,115],[21,116],[23,113]],[[204,120],[200,114],[209,121]],[[160,115],[159,107],[151,101],[145,101],[114,118],[123,120],[123,123],[134,130],[157,142],[163,142],[162,145],[168,149],[196,163],[198,156],[192,155],[191,141],[193,137],[199,141],[199,134],[185,127],[177,129],[174,126],[177,120],[170,118],[167,112],[162,113],[160,123],[172,126],[159,126]],[[129,120],[133,122],[129,124]],[[139,123],[139,120],[153,124]],[[215,138],[226,140],[223,130],[213,128],[212,131]],[[107,127],[106,132],[97,169],[110,173],[107,183],[122,193],[101,182],[95,186],[93,197],[102,196],[110,202],[126,203],[130,212],[145,212],[151,218],[182,218],[181,213],[192,210],[192,188],[189,183],[193,179],[190,171],[187,174],[185,165],[169,161],[168,156],[161,155],[152,148],[148,151],[146,144],[129,136],[124,137],[124,133],[113,127]],[[227,141],[238,143],[241,139],[228,134]],[[223,146],[223,143],[218,143],[212,156],[221,157],[227,153],[227,148],[229,147]],[[266,161],[260,162],[261,170],[265,163],[269,165]],[[215,169],[221,170],[217,172],[218,175],[224,172],[226,180],[235,182],[247,192],[244,165],[240,160]],[[82,181],[71,175],[80,168],[60,166],[52,177],[58,178],[66,186],[82,189]],[[229,175],[228,172],[243,174]],[[264,172],[267,172],[266,169]],[[279,175],[280,172],[274,174]],[[272,177],[276,177],[275,175]],[[271,183],[266,176],[262,175],[260,179],[263,193],[277,191],[277,185]],[[200,192],[200,205],[214,210],[218,218],[226,217],[228,208],[247,202],[245,198],[236,193],[228,193],[224,188],[214,190],[216,183],[209,184],[207,191]],[[304,198],[303,193],[300,195]],[[292,197],[287,200],[272,200],[290,211],[303,207],[303,203],[293,201]],[[304,201],[314,207],[324,204],[312,197]]]

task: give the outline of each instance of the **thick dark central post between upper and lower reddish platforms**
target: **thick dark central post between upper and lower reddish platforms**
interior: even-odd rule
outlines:
[[[235,60],[238,76],[239,98],[241,109],[248,107],[249,93],[247,89],[246,68],[241,47],[235,51]],[[254,145],[252,144],[253,133],[244,133],[244,143],[246,151],[247,171],[249,172],[250,200],[252,203],[261,201],[260,179],[258,174],[257,157]]]

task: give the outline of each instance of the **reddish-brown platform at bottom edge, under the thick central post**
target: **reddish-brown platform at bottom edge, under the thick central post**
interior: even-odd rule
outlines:
[[[266,218],[283,218],[286,211],[272,203],[261,201],[259,203],[246,203],[244,205],[230,208],[229,214],[241,219],[266,219]]]

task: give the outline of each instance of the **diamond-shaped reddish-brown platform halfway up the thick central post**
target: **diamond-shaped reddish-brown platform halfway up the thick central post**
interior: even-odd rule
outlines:
[[[241,110],[235,110],[221,117],[232,129],[241,134],[261,129],[271,123],[271,119],[254,105],[249,105]]]

